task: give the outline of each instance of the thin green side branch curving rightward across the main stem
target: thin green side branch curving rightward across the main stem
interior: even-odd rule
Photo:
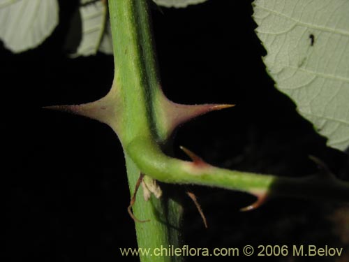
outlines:
[[[161,182],[244,191],[258,199],[290,196],[349,202],[349,183],[333,177],[279,177],[227,170],[208,163],[198,165],[166,156],[149,138],[136,138],[126,147],[126,151],[144,174]]]

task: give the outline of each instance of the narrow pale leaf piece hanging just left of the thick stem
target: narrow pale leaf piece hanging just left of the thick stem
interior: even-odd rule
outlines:
[[[80,0],[82,40],[72,57],[96,54],[105,31],[107,6],[105,1]]]

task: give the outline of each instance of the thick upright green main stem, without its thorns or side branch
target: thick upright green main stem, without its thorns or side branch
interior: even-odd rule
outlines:
[[[112,27],[115,75],[119,103],[123,105],[118,125],[119,137],[127,145],[135,134],[143,133],[150,138],[154,136],[156,124],[149,117],[152,115],[151,98],[156,96],[158,75],[156,59],[149,22],[149,11],[146,0],[110,0],[110,22]],[[130,95],[133,94],[133,95]],[[129,124],[137,122],[138,125]],[[142,127],[144,127],[142,129]],[[151,133],[152,130],[154,133]],[[128,182],[131,194],[140,176],[140,170],[125,152]],[[144,201],[142,188],[133,205],[133,213],[138,219],[149,219],[149,222],[135,223],[138,247],[154,249],[161,247],[180,247],[179,227],[181,205],[168,196],[157,199],[151,196]],[[181,261],[181,256],[140,256],[141,261]]]

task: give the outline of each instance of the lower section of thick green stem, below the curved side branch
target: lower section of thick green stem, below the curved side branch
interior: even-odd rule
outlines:
[[[128,183],[131,194],[135,189],[135,183],[140,175],[140,170],[135,166],[132,159],[126,154],[126,168]],[[156,252],[161,247],[168,248],[169,245],[181,247],[180,226],[181,226],[181,205],[168,196],[157,199],[154,196],[149,201],[144,201],[142,189],[138,192],[138,198],[133,205],[133,213],[138,219],[150,221],[135,223],[138,247]],[[151,253],[150,253],[151,254]],[[141,261],[149,262],[170,262],[182,261],[181,256],[142,256]]]

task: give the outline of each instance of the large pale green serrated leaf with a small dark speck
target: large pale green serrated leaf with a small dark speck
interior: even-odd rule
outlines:
[[[276,87],[327,144],[349,145],[349,1],[256,0],[256,32]]]

